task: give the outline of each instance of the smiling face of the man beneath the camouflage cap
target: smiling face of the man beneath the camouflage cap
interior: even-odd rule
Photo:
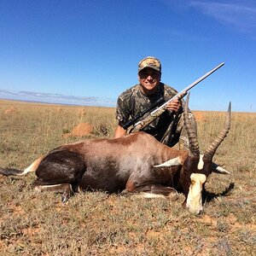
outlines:
[[[160,82],[160,77],[160,72],[150,67],[146,67],[138,73],[138,80],[146,93],[153,92],[156,89],[157,84]]]

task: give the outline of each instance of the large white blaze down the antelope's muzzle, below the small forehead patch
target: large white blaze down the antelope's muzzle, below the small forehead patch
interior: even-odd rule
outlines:
[[[186,207],[188,207],[189,212],[199,214],[203,210],[201,198],[202,185],[207,181],[207,177],[205,174],[192,173],[190,179],[191,185],[189,187]]]

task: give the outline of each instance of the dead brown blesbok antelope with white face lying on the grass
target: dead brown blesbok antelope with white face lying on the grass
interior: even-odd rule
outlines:
[[[65,144],[35,160],[23,172],[0,167],[0,173],[9,176],[35,171],[34,188],[61,192],[63,202],[80,190],[138,192],[143,197],[167,198],[177,197],[178,191],[185,195],[183,204],[189,212],[199,214],[207,177],[212,172],[229,173],[212,158],[230,130],[230,106],[223,131],[200,154],[195,131],[189,124],[188,102],[183,108],[189,151],[169,148],[147,133],[136,132],[121,138]]]

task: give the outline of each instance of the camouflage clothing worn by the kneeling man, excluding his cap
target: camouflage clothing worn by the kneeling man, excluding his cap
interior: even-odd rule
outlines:
[[[160,97],[167,101],[177,94],[177,90],[160,83],[158,90],[153,96],[146,96],[139,90],[140,86],[140,84],[136,84],[119,96],[116,109],[116,119],[119,120],[119,125],[123,126],[129,119],[133,119],[143,113],[145,109],[150,108]],[[180,123],[181,113],[182,108],[177,114],[166,110],[160,117],[154,119],[151,124],[144,127],[143,131],[153,135],[161,143],[172,147],[178,142],[182,131],[182,124]]]

